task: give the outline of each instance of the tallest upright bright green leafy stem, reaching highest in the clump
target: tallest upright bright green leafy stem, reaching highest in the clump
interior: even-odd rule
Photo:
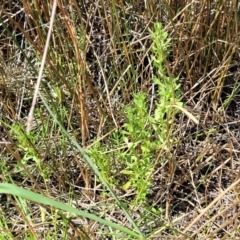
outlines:
[[[154,42],[152,48],[152,60],[157,69],[158,76],[154,76],[153,81],[158,86],[159,100],[155,110],[154,117],[151,122],[159,133],[159,139],[162,148],[166,149],[166,140],[171,136],[171,130],[174,116],[177,110],[173,105],[182,106],[180,84],[177,83],[178,78],[166,75],[164,61],[168,56],[170,47],[170,39],[167,32],[162,29],[160,23],[155,24],[151,37]]]

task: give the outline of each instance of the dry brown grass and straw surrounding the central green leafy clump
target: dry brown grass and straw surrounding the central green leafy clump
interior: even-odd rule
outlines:
[[[22,163],[28,150],[19,145],[11,126],[25,128],[51,16],[49,2],[0,4],[0,177],[65,202],[71,192],[74,206],[128,226],[112,199],[100,194],[101,184],[40,98],[28,150],[41,160],[50,180],[31,159]],[[156,94],[148,28],[162,22],[172,42],[165,60],[168,75],[179,76],[186,108],[200,123],[177,116],[171,164],[159,166],[152,176],[149,205],[161,208],[162,215],[152,219],[149,214],[149,220],[141,209],[131,214],[149,239],[239,239],[239,1],[77,2],[58,1],[40,90],[48,104],[84,148],[94,138],[107,142],[109,133],[122,126],[120,109],[133,93],[148,93],[149,102]],[[42,222],[39,206],[28,203],[29,220],[15,199],[0,198],[11,201],[1,211],[8,222],[4,231],[12,232],[12,238],[22,239],[28,231],[34,239],[46,238],[48,223],[57,215],[52,209]],[[91,239],[113,239],[100,234],[108,231],[105,227],[67,218],[66,239],[84,238],[84,232]],[[61,224],[59,220],[59,229]],[[55,232],[61,238],[63,231]]]

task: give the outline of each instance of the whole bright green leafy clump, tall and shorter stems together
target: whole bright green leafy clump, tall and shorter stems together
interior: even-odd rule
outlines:
[[[174,144],[171,133],[178,110],[173,105],[182,106],[180,84],[177,84],[177,78],[166,75],[164,67],[170,46],[167,32],[158,23],[151,31],[151,37],[154,42],[152,60],[157,69],[153,81],[158,86],[153,116],[149,115],[146,94],[135,94],[133,102],[123,108],[126,123],[111,135],[111,146],[118,147],[109,150],[98,143],[89,150],[105,179],[115,186],[121,185],[125,191],[135,192],[133,205],[146,203],[156,153],[169,150]]]

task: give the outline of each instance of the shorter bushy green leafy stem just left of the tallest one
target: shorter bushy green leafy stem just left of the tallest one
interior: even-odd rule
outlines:
[[[123,189],[135,189],[137,201],[145,201],[147,189],[151,185],[151,159],[158,148],[157,143],[151,141],[152,129],[148,125],[146,95],[136,94],[133,104],[127,106],[125,111],[127,123],[124,124],[121,134],[128,150],[124,158],[121,158],[122,164],[126,166],[121,172],[128,176],[128,181],[123,185]]]

